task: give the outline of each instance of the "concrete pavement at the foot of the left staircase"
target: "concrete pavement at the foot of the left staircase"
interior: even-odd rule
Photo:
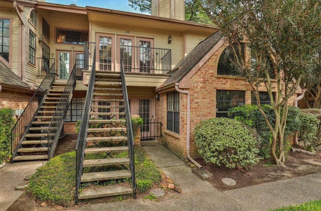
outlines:
[[[42,165],[43,161],[16,162],[0,169],[0,211],[6,210],[22,195],[24,191],[15,190],[15,187]]]

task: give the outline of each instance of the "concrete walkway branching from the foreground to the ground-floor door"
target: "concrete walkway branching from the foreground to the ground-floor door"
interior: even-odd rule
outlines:
[[[130,199],[122,202],[91,204],[79,210],[268,210],[290,204],[300,204],[321,198],[321,173],[218,191],[209,182],[195,176],[180,158],[158,143],[143,143],[154,163],[183,192],[154,202]],[[215,176],[215,175],[214,175]]]

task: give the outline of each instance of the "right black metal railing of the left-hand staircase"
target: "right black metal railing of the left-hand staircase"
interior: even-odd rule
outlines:
[[[67,84],[60,96],[55,113],[53,114],[48,126],[47,139],[48,139],[48,160],[54,156],[55,149],[61,131],[63,130],[64,120],[69,107],[73,92],[76,86],[76,65],[69,76]]]

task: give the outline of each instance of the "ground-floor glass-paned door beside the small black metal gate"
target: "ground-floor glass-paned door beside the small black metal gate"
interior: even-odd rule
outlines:
[[[141,128],[141,139],[148,139],[152,134],[152,99],[139,99],[138,114],[143,119],[143,127]]]

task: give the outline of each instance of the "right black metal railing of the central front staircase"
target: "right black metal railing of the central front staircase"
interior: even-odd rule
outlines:
[[[124,65],[123,65],[122,60],[120,60],[120,76],[121,76],[123,96],[124,96],[124,105],[125,105],[125,112],[126,112],[125,119],[126,119],[126,127],[127,127],[126,134],[127,134],[127,145],[128,145],[128,155],[129,155],[129,168],[130,168],[130,172],[131,172],[131,180],[132,180],[132,186],[133,186],[133,191],[134,191],[133,193],[134,193],[134,197],[136,197],[135,162],[134,162],[135,161],[135,158],[134,158],[134,135],[133,135],[131,116],[130,116]]]

